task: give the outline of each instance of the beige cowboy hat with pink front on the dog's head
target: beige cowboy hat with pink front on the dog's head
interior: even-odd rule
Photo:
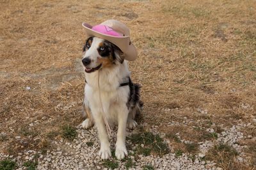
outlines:
[[[86,34],[106,39],[118,46],[125,54],[125,60],[135,60],[138,56],[135,46],[131,43],[129,28],[118,20],[106,20],[99,25],[92,26],[83,22]]]

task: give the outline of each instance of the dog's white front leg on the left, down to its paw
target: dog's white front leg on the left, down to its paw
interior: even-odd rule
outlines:
[[[108,133],[106,131],[105,123],[100,112],[94,115],[96,127],[98,129],[99,140],[100,140],[100,151],[99,156],[101,159],[109,159],[111,157],[110,145],[108,141]]]

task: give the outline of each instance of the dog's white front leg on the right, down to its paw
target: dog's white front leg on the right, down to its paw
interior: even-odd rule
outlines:
[[[128,155],[125,146],[126,137],[126,123],[128,117],[128,108],[125,104],[119,107],[118,110],[118,131],[116,136],[116,152],[115,156],[117,159],[124,159],[125,155]]]

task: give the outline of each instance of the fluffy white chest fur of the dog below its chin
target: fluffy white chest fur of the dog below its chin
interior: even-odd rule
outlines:
[[[101,109],[103,109],[109,123],[117,122],[116,114],[120,112],[118,106],[126,104],[128,100],[129,86],[120,87],[120,83],[122,83],[124,77],[129,76],[129,70],[126,61],[122,65],[122,67],[111,68],[111,71],[97,71],[86,74],[87,83],[84,88],[84,98],[90,105],[91,110],[97,110],[101,113]],[[100,97],[103,108],[100,108]]]

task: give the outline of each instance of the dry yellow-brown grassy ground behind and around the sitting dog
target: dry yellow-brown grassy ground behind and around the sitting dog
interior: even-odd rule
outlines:
[[[52,150],[63,126],[83,121],[81,23],[115,18],[138,48],[129,66],[143,86],[144,128],[166,134],[177,157],[199,152],[183,141],[212,141],[206,160],[255,169],[255,1],[0,0],[0,18],[1,153]],[[244,147],[232,155],[216,146],[236,125]]]

